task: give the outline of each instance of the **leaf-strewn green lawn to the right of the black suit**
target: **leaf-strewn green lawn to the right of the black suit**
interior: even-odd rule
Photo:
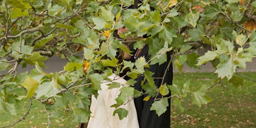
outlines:
[[[255,79],[256,73],[241,73]],[[190,88],[195,89],[200,84],[214,85],[216,76],[213,73],[175,73],[174,84],[180,85],[190,80]],[[181,103],[185,110],[181,112],[177,106],[171,106],[171,127],[173,128],[253,128],[256,123],[256,82],[247,78],[243,86],[235,88],[225,82],[225,90],[218,84],[207,91],[212,99],[201,108],[192,104],[186,97]],[[174,98],[173,98],[174,99]]]

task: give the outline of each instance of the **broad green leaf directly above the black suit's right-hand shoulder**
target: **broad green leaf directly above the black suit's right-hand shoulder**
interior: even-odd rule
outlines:
[[[172,43],[172,38],[177,38],[176,30],[168,28],[166,26],[163,27],[163,30],[159,32],[159,38],[163,38],[169,44]]]

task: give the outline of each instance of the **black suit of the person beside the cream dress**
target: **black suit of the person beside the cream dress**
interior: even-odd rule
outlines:
[[[137,56],[137,58],[139,57],[145,57],[146,61],[148,62],[150,60],[150,55],[148,55],[148,45],[145,45],[143,47],[143,49],[141,50],[141,52],[139,53],[139,55]],[[130,51],[133,51],[133,55],[135,55],[137,50],[133,49],[133,45],[130,45]],[[154,73],[154,75],[152,75],[152,77],[154,78],[161,78],[163,77],[166,68],[168,67],[168,63],[170,61],[170,55],[167,55],[167,61],[161,65],[159,65],[159,63],[157,64],[153,64],[150,65],[149,68],[147,68],[149,71],[151,71],[152,73]],[[135,62],[135,60],[137,59],[134,56],[132,56],[131,61]],[[172,64],[169,66],[169,69],[166,73],[166,76],[163,79],[163,84],[167,84],[167,85],[171,85],[172,84]],[[137,83],[135,83],[135,89],[141,91],[141,81],[144,79],[144,76],[140,75],[136,80]],[[162,83],[162,79],[154,79],[155,85],[159,88],[159,86],[161,86]],[[143,90],[142,90],[143,91]],[[170,96],[166,95],[165,97]],[[151,97],[148,101],[143,101],[143,99],[146,97],[147,95],[143,95],[141,97],[137,97],[134,99],[135,102],[135,107],[137,110],[137,116],[138,116],[138,120],[139,120],[139,127],[140,128],[170,128],[170,99],[168,99],[168,104],[169,106],[167,107],[167,111],[165,113],[163,113],[162,115],[160,115],[160,117],[156,114],[155,110],[150,110],[150,107],[152,106],[152,103],[154,101],[154,97]],[[162,96],[159,94],[158,96],[159,98],[161,98]]]

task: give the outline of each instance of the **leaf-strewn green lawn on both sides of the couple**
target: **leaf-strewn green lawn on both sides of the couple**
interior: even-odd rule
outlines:
[[[241,73],[253,79],[256,72]],[[190,80],[190,88],[195,89],[200,84],[214,85],[216,76],[213,73],[174,73],[173,83],[179,86],[186,80]],[[216,85],[207,91],[212,99],[207,105],[198,108],[192,105],[191,98],[186,97],[181,103],[185,110],[181,112],[177,106],[171,106],[171,127],[173,128],[254,128],[256,123],[256,82],[244,78],[243,86],[234,88],[232,84],[225,83],[223,86]],[[22,92],[20,88],[20,92]],[[19,92],[17,92],[19,93]],[[174,98],[173,98],[174,99]],[[31,111],[25,120],[20,121],[14,128],[45,128],[47,126],[47,115],[40,102],[33,99]],[[25,106],[24,103],[26,104]],[[16,108],[16,116],[11,116],[0,111],[0,127],[13,124],[18,121],[29,106],[29,99],[23,99]],[[51,119],[51,128],[75,128],[70,118],[62,117]]]

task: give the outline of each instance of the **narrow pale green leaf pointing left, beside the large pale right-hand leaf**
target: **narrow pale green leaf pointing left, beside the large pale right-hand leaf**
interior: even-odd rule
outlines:
[[[207,51],[205,55],[199,57],[198,63],[196,64],[197,66],[205,64],[206,62],[209,62],[210,60],[215,59],[218,56],[218,54],[214,51]]]

